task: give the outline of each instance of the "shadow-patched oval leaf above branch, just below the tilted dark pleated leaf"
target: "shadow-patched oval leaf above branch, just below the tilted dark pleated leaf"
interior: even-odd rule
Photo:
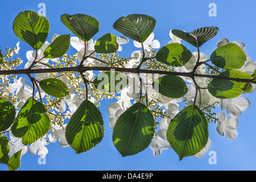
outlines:
[[[160,48],[156,53],[156,60],[172,67],[182,67],[191,59],[191,56],[192,53],[185,46],[171,43]]]

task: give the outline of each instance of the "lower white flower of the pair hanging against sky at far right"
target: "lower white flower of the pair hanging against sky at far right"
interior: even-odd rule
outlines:
[[[224,136],[230,140],[237,138],[237,126],[238,119],[229,117],[226,119],[225,113],[221,112],[217,114],[218,123],[217,132],[218,134]]]

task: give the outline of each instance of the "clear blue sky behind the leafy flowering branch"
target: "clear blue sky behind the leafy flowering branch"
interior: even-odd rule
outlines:
[[[113,23],[121,16],[129,14],[147,14],[153,16],[157,23],[154,30],[155,39],[158,39],[161,46],[168,44],[170,40],[169,32],[171,29],[185,30],[190,32],[196,28],[206,26],[217,26],[220,28],[218,34],[208,43],[201,47],[201,51],[210,53],[216,48],[218,40],[227,38],[230,42],[234,40],[246,44],[245,51],[255,60],[255,1],[3,1],[0,6],[0,49],[5,47],[13,48],[17,42],[20,42],[19,56],[26,62],[26,52],[31,50],[26,43],[19,40],[12,29],[13,21],[20,11],[32,10],[39,11],[38,4],[46,4],[46,18],[51,25],[48,41],[53,34],[71,34],[60,21],[62,14],[88,14],[94,16],[100,22],[100,31],[94,40],[110,32],[120,36],[119,32],[113,28]],[[216,3],[217,16],[210,17],[209,3]],[[191,50],[195,48],[183,42]],[[138,50],[133,46],[133,41],[123,46],[123,56],[129,57],[131,52]],[[75,49],[69,49],[74,53]],[[28,83],[29,84],[29,83]],[[134,156],[123,158],[115,149],[112,143],[112,129],[109,127],[109,115],[106,111],[107,106],[113,101],[105,101],[100,107],[105,121],[105,137],[98,146],[92,150],[76,155],[71,147],[62,148],[59,143],[50,143],[46,164],[38,164],[38,155],[32,155],[27,152],[22,156],[22,165],[19,170],[255,170],[256,169],[256,119],[255,119],[255,93],[247,94],[251,101],[249,109],[244,111],[239,119],[240,124],[237,127],[238,138],[228,140],[219,135],[216,131],[217,124],[209,124],[209,135],[212,140],[212,146],[209,151],[215,151],[217,154],[217,164],[210,165],[208,160],[209,151],[203,158],[193,157],[184,158],[179,161],[175,151],[163,150],[160,156],[154,156],[148,147],[143,152]],[[0,164],[0,170],[6,170],[7,167]]]

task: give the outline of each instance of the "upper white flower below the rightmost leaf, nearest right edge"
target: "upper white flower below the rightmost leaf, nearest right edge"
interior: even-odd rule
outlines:
[[[250,101],[245,97],[221,100],[221,110],[226,110],[228,115],[236,119],[240,118],[242,111],[248,109],[250,105]]]

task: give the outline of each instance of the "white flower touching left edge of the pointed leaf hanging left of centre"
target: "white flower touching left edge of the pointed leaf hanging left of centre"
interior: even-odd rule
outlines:
[[[52,143],[57,142],[57,140],[60,141],[61,147],[69,147],[69,144],[65,138],[65,128],[67,124],[60,126],[60,125],[52,125],[52,127],[55,129],[52,133],[49,134],[49,141]]]

